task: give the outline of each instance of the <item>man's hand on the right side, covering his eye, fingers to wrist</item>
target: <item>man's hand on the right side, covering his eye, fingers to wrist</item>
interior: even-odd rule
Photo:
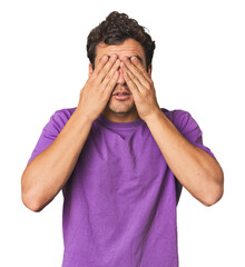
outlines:
[[[122,58],[121,71],[129,90],[133,93],[139,117],[143,120],[158,113],[160,108],[157,102],[154,82],[143,63],[136,58]]]

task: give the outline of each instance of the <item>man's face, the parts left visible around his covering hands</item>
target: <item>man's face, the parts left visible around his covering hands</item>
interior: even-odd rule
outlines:
[[[124,56],[127,56],[128,58],[135,56],[141,61],[143,66],[145,66],[146,68],[146,57],[144,49],[141,44],[134,39],[127,39],[121,44],[117,46],[99,43],[96,50],[95,68],[98,66],[98,62],[104,55],[109,57],[114,53],[116,53],[119,59],[122,59]],[[89,70],[91,73],[92,72],[91,65],[89,66]],[[148,73],[150,75],[150,68],[148,69]],[[110,116],[117,116],[119,113],[125,115],[137,113],[133,95],[130,93],[130,96],[125,100],[118,100],[116,97],[112,96],[112,93],[118,90],[126,90],[127,92],[130,93],[130,90],[128,89],[127,83],[124,79],[122,72],[120,72],[117,85],[115,86],[111,92],[110,99],[105,109],[106,113],[107,115],[109,113]]]

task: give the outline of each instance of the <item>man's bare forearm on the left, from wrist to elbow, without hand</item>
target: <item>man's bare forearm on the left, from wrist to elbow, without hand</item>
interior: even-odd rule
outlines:
[[[75,110],[55,141],[23,171],[22,200],[33,211],[41,210],[69,179],[85,145],[92,121]]]

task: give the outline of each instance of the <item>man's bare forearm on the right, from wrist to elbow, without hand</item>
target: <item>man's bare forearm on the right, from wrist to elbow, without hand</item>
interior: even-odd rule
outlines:
[[[205,206],[218,201],[224,175],[217,160],[186,140],[161,110],[145,121],[179,182]]]

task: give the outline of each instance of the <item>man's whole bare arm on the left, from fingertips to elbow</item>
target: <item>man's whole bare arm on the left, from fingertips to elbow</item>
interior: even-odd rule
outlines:
[[[80,92],[77,109],[57,138],[24,169],[21,177],[23,204],[33,211],[48,205],[69,179],[86,142],[92,121],[105,109],[117,82],[117,57],[104,57]]]

